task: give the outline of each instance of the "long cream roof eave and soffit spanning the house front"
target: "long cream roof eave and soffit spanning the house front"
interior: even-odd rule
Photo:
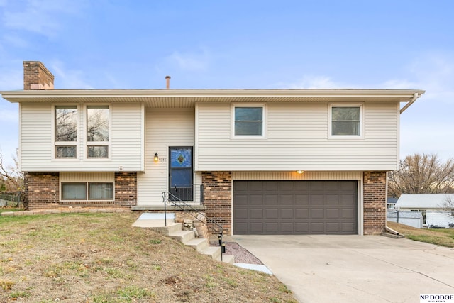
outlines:
[[[1,92],[13,102],[118,102],[147,107],[193,107],[204,102],[408,102],[423,90],[410,89],[49,89]]]

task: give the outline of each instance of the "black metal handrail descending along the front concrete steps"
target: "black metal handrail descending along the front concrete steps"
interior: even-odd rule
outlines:
[[[218,224],[218,222],[214,221],[214,219],[207,217],[203,212],[194,209],[194,207],[192,207],[191,204],[187,204],[187,202],[184,202],[182,199],[179,199],[179,197],[175,196],[175,194],[172,194],[170,192],[162,192],[162,202],[164,202],[165,226],[167,226],[167,203],[172,204],[172,206],[175,206],[178,209],[181,209],[182,211],[194,211],[201,217],[203,217],[205,221],[200,219],[199,216],[196,216],[189,212],[191,216],[201,221],[202,224],[205,224],[206,227],[211,229],[211,231],[214,231],[215,234],[218,234],[219,246],[221,246],[221,261],[222,261],[222,254],[226,252],[226,244],[223,242],[223,227],[221,226],[221,224]]]

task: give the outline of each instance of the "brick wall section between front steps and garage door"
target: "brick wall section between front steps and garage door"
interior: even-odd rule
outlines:
[[[232,234],[232,173],[202,172],[206,216],[223,227],[225,235]],[[211,234],[214,234],[210,230]]]

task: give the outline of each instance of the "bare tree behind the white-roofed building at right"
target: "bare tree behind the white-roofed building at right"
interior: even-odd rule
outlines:
[[[445,194],[454,192],[454,159],[442,162],[438,155],[407,155],[399,170],[388,175],[389,195]]]

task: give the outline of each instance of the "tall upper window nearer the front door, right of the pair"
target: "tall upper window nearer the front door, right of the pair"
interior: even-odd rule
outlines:
[[[109,106],[87,106],[87,158],[109,158]]]

